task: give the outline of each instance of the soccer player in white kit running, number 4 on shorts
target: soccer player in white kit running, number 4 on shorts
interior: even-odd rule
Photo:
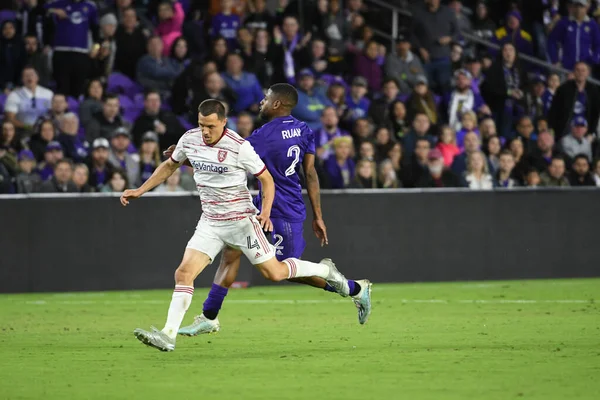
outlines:
[[[194,168],[202,216],[175,271],[175,290],[165,327],[134,331],[142,343],[161,351],[175,349],[177,331],[192,302],[194,280],[225,246],[241,250],[269,280],[317,276],[338,293],[349,294],[348,281],[330,259],[318,264],[296,258],[277,261],[275,249],[263,233],[273,229],[269,219],[275,196],[273,178],[252,145],[225,128],[226,124],[225,106],[218,100],[203,101],[198,107],[199,128],[181,137],[171,158],[142,186],[126,190],[121,196],[121,203],[128,205],[130,200],[163,183],[186,159]],[[247,187],[247,172],[254,174],[262,185],[259,215]]]

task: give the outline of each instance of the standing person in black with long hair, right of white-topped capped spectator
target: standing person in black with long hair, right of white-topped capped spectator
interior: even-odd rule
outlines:
[[[505,43],[500,56],[486,73],[481,93],[490,107],[498,133],[510,138],[513,119],[522,113],[524,94],[522,87],[527,85],[525,70],[521,68],[515,46]]]

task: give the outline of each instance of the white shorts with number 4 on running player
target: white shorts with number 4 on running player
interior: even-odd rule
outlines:
[[[210,223],[200,218],[187,248],[198,250],[214,261],[223,247],[241,250],[252,265],[275,257],[275,247],[267,240],[255,216],[228,223]]]

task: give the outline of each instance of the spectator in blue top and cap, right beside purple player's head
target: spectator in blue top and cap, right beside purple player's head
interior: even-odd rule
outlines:
[[[325,107],[333,107],[323,90],[315,86],[315,77],[311,70],[303,69],[298,74],[298,104],[292,115],[313,131],[321,129],[321,114]]]

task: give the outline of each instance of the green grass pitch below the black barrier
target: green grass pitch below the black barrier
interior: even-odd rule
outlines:
[[[221,332],[138,342],[170,291],[0,296],[0,399],[600,399],[600,280],[230,291]],[[198,289],[184,320],[199,312]]]

